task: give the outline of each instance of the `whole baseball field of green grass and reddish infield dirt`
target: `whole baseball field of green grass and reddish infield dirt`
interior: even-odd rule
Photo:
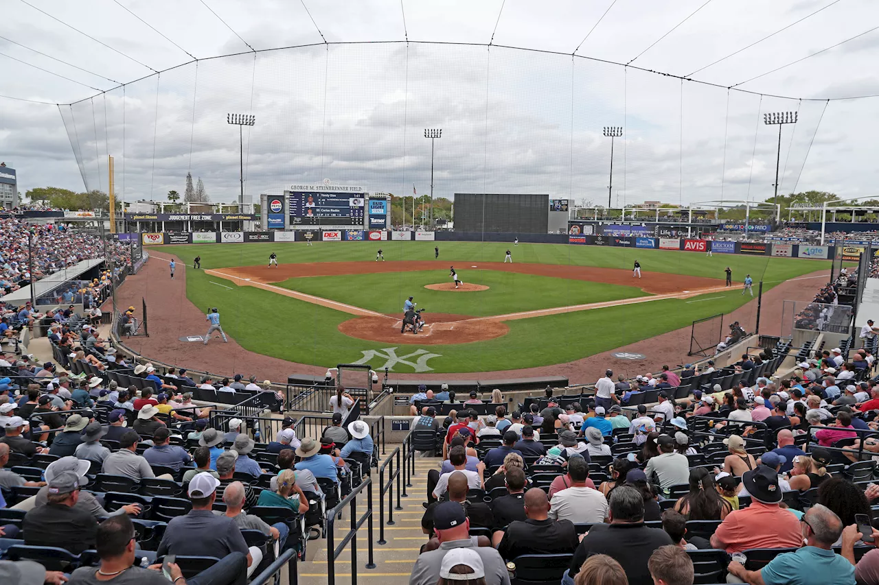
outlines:
[[[380,248],[384,261],[376,262]],[[503,263],[506,249],[512,264]],[[219,308],[223,329],[244,350],[301,365],[368,363],[395,373],[573,362],[742,307],[752,300],[742,295],[747,274],[755,295],[761,280],[764,293],[794,278],[803,280],[788,287],[814,291],[825,281],[804,275],[829,268],[825,261],[787,257],[492,242],[275,242],[150,251],[160,253],[150,260],[144,286],[162,286],[165,293],[164,287],[185,286],[179,293],[201,312]],[[270,268],[272,252],[279,265]],[[171,256],[178,260],[172,282]],[[201,270],[192,268],[195,256]],[[636,260],[642,278],[633,278]],[[464,283],[457,290],[452,266]],[[727,266],[730,287],[724,286]],[[418,335],[400,333],[409,296],[425,309]],[[171,335],[204,334],[182,324],[174,312],[184,308],[154,302],[150,319],[180,323],[176,331],[165,324]],[[186,354],[201,350],[200,344],[169,343]]]

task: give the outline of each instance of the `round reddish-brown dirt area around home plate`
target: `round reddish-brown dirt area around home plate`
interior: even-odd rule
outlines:
[[[452,286],[454,290],[454,285]],[[450,345],[487,341],[505,336],[510,328],[502,321],[475,319],[463,314],[425,313],[425,327],[413,334],[400,333],[403,315],[366,316],[342,321],[338,330],[349,337],[396,344]]]

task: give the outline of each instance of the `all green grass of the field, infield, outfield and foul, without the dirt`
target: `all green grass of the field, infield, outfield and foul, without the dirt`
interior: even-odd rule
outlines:
[[[482,242],[381,242],[388,260],[424,260],[433,258],[433,246],[439,245],[439,258],[450,263],[502,261],[509,244]],[[373,262],[374,242],[317,242],[313,247],[302,243],[251,243],[164,246],[163,251],[192,263],[202,258],[202,268],[225,268],[265,264],[275,251],[282,264],[295,262]],[[829,268],[825,261],[771,256],[720,255],[706,257],[694,252],[650,249],[598,248],[555,244],[519,244],[511,248],[513,259],[542,264],[594,265],[630,268],[637,258],[645,271],[662,271],[694,276],[723,278],[729,265],[737,280],[750,272],[754,281],[765,281],[764,290],[803,274]],[[464,271],[462,271],[464,272]],[[294,278],[283,285],[318,296],[332,296],[358,307],[383,313],[397,313],[403,299],[415,290],[419,306],[429,312],[454,314],[498,314],[528,308],[565,306],[576,302],[593,302],[599,295],[637,296],[641,291],[628,286],[604,285],[584,281],[536,277],[515,273],[486,271],[478,279],[477,271],[466,271],[466,281],[480,281],[492,288],[483,293],[439,293],[428,291],[424,284],[444,282],[446,274],[432,271],[351,275],[346,277]],[[483,278],[484,277],[484,278]],[[506,280],[505,280],[506,279]],[[381,351],[388,343],[374,343],[345,336],[338,331],[350,314],[284,297],[251,286],[225,289],[209,285],[202,271],[187,271],[186,293],[196,307],[219,307],[223,328],[244,348],[268,356],[309,365],[332,366],[352,363],[365,351]],[[486,280],[488,280],[486,282]],[[805,286],[815,283],[807,281]],[[756,288],[756,286],[755,286]],[[322,294],[323,290],[323,294]],[[333,291],[330,294],[328,291]],[[633,293],[634,291],[634,293]],[[756,291],[755,291],[756,293]],[[583,297],[588,297],[582,300]],[[490,300],[490,301],[489,301]],[[605,300],[602,298],[602,300]],[[610,307],[570,314],[555,314],[519,321],[507,321],[509,334],[490,341],[453,345],[399,343],[397,356],[425,350],[437,357],[424,361],[429,372],[488,372],[560,364],[612,350],[627,343],[686,327],[695,319],[729,313],[750,297],[740,289],[709,293],[689,300],[656,300],[625,307]],[[694,302],[698,301],[698,302]],[[415,340],[412,336],[401,341]],[[417,356],[407,361],[415,362]],[[370,365],[382,368],[385,358],[373,358]],[[410,365],[397,364],[393,372],[415,372]]]

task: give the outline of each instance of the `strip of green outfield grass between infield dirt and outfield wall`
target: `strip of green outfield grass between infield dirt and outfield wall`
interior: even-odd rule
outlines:
[[[278,254],[280,264],[301,262],[373,262],[375,250],[384,250],[387,260],[432,260],[433,247],[439,246],[439,260],[449,264],[461,262],[503,262],[506,249],[512,250],[514,262],[535,264],[571,264],[624,268],[631,270],[637,259],[643,271],[688,274],[691,276],[724,278],[723,268],[730,266],[737,282],[751,274],[759,280],[781,281],[807,272],[829,268],[829,261],[803,258],[748,256],[745,254],[715,254],[708,257],[699,252],[660,249],[614,248],[577,246],[571,244],[529,244],[503,242],[316,242],[307,247],[302,242],[242,243],[242,244],[188,244],[158,246],[163,252],[178,256],[186,264],[193,264],[201,256],[202,268],[229,268],[268,264],[269,254]],[[150,247],[147,247],[150,249]],[[464,275],[466,271],[461,271]],[[465,278],[466,281],[466,278]]]

